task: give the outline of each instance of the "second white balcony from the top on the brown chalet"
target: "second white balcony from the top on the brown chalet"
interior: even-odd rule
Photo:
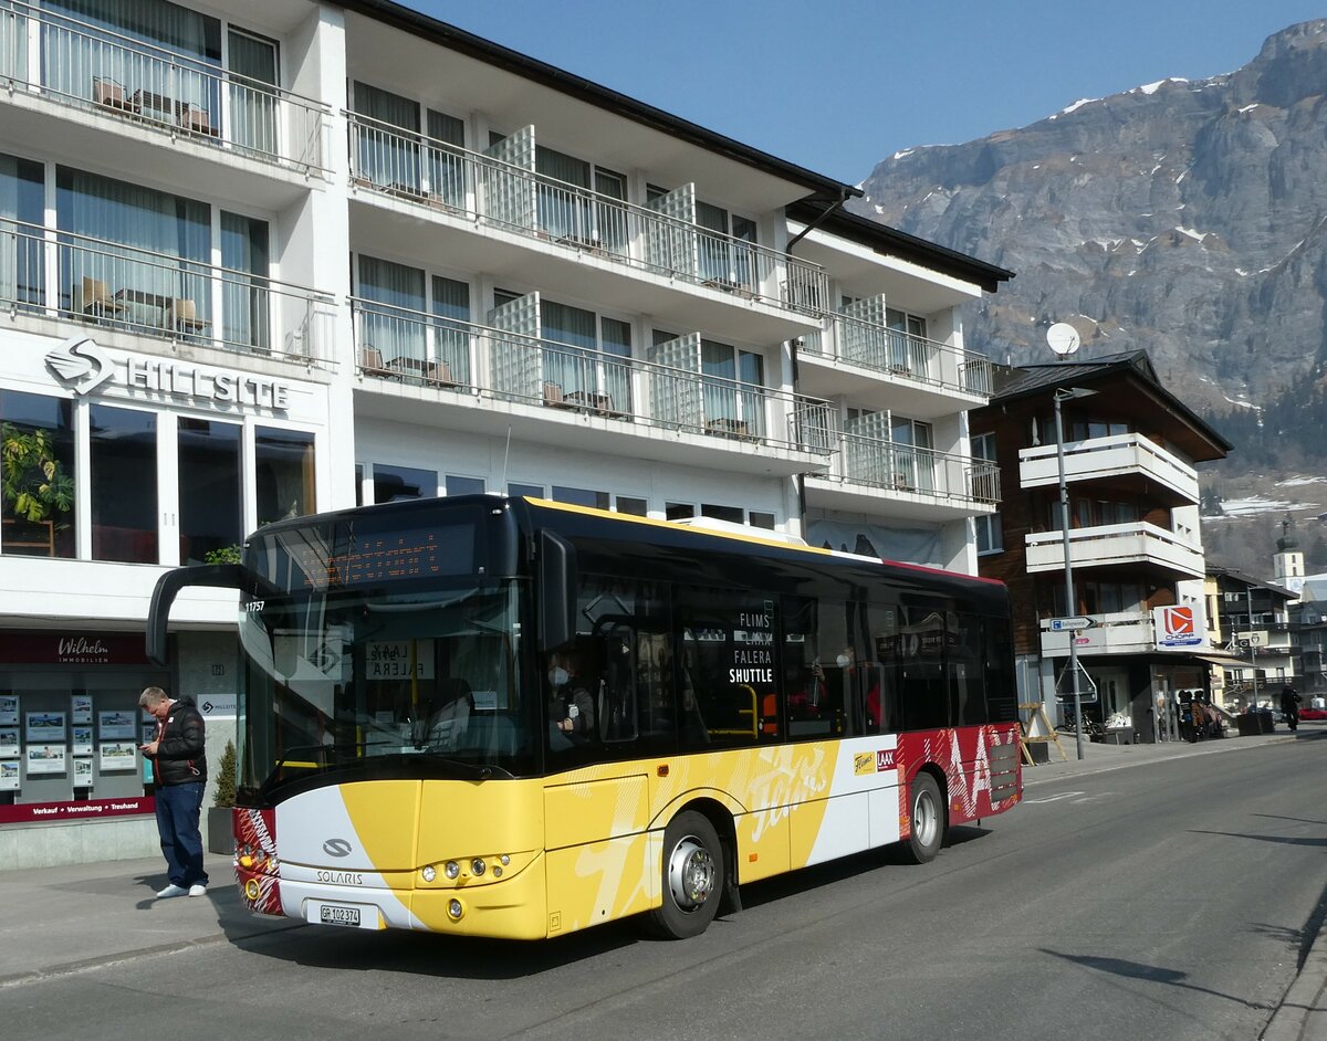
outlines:
[[[1064,570],[1063,533],[1034,532],[1026,536],[1027,570]],[[1070,530],[1070,554],[1079,568],[1129,565],[1154,569],[1162,580],[1202,578],[1202,550],[1174,532],[1154,524],[1109,524]]]

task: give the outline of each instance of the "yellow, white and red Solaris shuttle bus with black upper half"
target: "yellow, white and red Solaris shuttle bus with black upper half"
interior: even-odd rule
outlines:
[[[1022,793],[1001,582],[494,495],[260,528],[240,564],[235,871],[313,924],[702,932],[740,886]]]

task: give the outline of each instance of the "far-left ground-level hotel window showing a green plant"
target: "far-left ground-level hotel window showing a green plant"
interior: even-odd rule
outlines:
[[[73,402],[0,390],[4,491],[3,552],[23,557],[73,557]]]

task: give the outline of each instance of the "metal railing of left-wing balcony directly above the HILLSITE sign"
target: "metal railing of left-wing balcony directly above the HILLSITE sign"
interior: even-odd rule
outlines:
[[[336,314],[312,289],[7,219],[0,306],[324,366]]]

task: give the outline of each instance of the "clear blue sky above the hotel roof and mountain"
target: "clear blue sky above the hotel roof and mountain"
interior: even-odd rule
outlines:
[[[1322,0],[402,0],[849,183],[914,145],[1250,61]]]

